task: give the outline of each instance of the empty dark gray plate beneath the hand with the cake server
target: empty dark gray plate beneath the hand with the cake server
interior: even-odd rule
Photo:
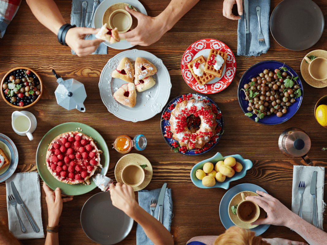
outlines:
[[[82,208],[80,219],[86,236],[103,245],[115,244],[125,239],[134,222],[112,205],[109,191],[90,197]]]

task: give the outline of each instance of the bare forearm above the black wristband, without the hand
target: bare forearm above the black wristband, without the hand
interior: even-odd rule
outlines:
[[[53,0],[26,0],[26,2],[38,21],[57,35],[60,27],[66,22],[56,3]]]

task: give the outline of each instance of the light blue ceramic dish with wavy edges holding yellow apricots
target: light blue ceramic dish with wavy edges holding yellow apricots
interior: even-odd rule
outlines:
[[[213,157],[209,158],[209,159],[206,159],[206,160],[203,160],[199,163],[197,163],[196,165],[194,165],[194,167],[192,168],[191,170],[191,180],[193,182],[194,185],[196,185],[197,187],[199,188],[204,188],[204,189],[207,189],[207,188],[224,188],[224,189],[228,189],[229,188],[229,183],[231,183],[232,181],[234,180],[238,180],[238,179],[241,179],[245,176],[246,172],[252,168],[253,166],[253,163],[249,160],[249,159],[244,159],[241,155],[230,155],[232,157],[234,157],[236,159],[236,162],[239,162],[242,164],[243,166],[243,169],[241,172],[235,172],[234,176],[232,178],[227,178],[226,177],[226,180],[222,183],[220,182],[217,182],[216,181],[216,184],[212,187],[205,187],[204,185],[202,185],[202,181],[199,180],[196,176],[195,176],[195,172],[197,172],[198,169],[202,169],[203,168],[203,165],[206,163],[206,162],[211,162],[213,163],[214,165],[220,161],[220,160],[224,160],[226,157],[228,156],[222,156],[219,152],[217,152],[216,155],[214,155]]]

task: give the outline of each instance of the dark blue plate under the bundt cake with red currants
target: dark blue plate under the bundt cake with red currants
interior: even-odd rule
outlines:
[[[216,105],[215,102],[213,102],[211,99],[209,99],[207,96],[203,96],[202,94],[198,94],[198,93],[192,93],[192,97],[195,98],[195,99],[198,99],[198,100],[209,100],[209,102],[207,103],[208,105],[215,105],[216,108],[217,108],[217,111],[218,113],[221,113],[221,111],[219,110],[218,106]],[[161,133],[163,135],[163,139],[166,141],[166,143],[169,145],[169,147],[173,147],[172,146],[172,143],[173,142],[177,142],[175,139],[172,139],[172,138],[167,138],[165,137],[165,133],[166,133],[166,129],[165,127],[168,127],[170,126],[170,123],[169,123],[169,120],[165,120],[163,119],[163,115],[165,112],[171,112],[171,110],[169,109],[169,106],[171,104],[173,104],[174,106],[177,105],[177,102],[179,101],[179,99],[182,99],[183,98],[183,95],[181,96],[177,96],[175,99],[171,100],[167,105],[166,107],[163,109],[163,114],[162,114],[162,117],[161,117],[161,123],[160,123],[160,126],[161,126]],[[210,140],[208,143],[212,143],[212,146],[209,147],[207,150],[204,150],[202,151],[201,153],[195,153],[195,149],[193,150],[188,150],[186,151],[185,153],[182,153],[182,152],[179,152],[181,154],[184,154],[184,155],[200,155],[200,154],[203,154],[205,152],[208,152],[210,151],[212,148],[214,148],[214,146],[218,143],[218,141],[220,140],[221,138],[221,135],[222,135],[222,132],[224,131],[224,119],[223,119],[223,116],[221,116],[220,119],[216,119],[216,122],[217,122],[217,125],[219,125],[221,127],[220,129],[220,132],[218,133],[218,138],[216,140]]]

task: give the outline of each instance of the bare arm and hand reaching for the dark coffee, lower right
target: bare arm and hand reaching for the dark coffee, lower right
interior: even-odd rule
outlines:
[[[326,244],[327,233],[318,229],[316,226],[301,219],[298,215],[294,214],[280,201],[271,195],[258,191],[260,196],[247,196],[246,199],[255,202],[267,212],[267,218],[259,219],[251,225],[256,224],[272,224],[286,226],[301,237],[303,237],[310,245]]]

